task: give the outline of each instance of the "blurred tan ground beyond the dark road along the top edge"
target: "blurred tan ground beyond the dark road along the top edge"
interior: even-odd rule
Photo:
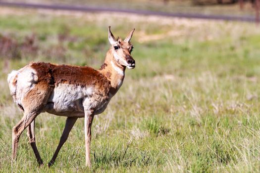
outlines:
[[[253,15],[257,0],[1,0],[13,3],[78,5],[200,14]],[[243,10],[240,10],[243,9]]]

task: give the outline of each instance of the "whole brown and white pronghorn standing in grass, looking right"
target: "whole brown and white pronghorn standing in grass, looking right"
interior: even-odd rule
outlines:
[[[42,112],[67,117],[58,146],[48,166],[51,167],[78,118],[84,118],[86,166],[91,167],[91,126],[95,115],[104,112],[110,99],[122,86],[126,67],[135,68],[130,40],[133,29],[122,40],[115,39],[108,27],[111,47],[99,70],[88,66],[31,62],[8,74],[7,81],[15,104],[23,112],[12,129],[12,161],[16,160],[21,133],[27,129],[29,143],[39,166],[42,158],[35,142],[35,118]]]

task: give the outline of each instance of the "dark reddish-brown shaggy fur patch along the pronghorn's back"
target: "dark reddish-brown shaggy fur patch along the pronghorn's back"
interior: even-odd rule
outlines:
[[[99,88],[104,94],[108,94],[110,82],[99,71],[91,67],[71,65],[55,65],[51,63],[31,63],[37,72],[38,83],[48,84],[50,87],[60,83],[68,83],[76,86],[93,86]],[[37,83],[37,84],[38,84]]]

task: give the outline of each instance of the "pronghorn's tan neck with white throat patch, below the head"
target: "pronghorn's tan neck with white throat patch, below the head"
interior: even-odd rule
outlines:
[[[107,51],[104,64],[99,71],[110,81],[112,87],[110,93],[114,95],[123,84],[125,67],[115,60],[111,49]]]

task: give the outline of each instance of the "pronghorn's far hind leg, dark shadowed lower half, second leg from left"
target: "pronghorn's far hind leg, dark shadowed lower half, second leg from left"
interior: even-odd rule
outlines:
[[[34,125],[35,125],[35,120],[27,127],[27,136],[29,137],[30,145],[33,149],[33,152],[35,154],[39,166],[43,166],[43,160],[40,156],[40,153],[35,143]]]

